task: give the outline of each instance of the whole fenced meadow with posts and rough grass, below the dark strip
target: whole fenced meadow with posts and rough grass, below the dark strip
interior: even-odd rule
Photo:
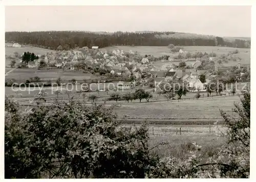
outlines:
[[[134,125],[123,125],[132,127]],[[138,127],[139,125],[135,125]],[[179,131],[181,128],[181,133]],[[178,132],[176,132],[178,129]],[[149,125],[150,148],[161,157],[176,157],[185,160],[195,148],[192,143],[202,146],[200,150],[201,158],[211,157],[217,154],[219,147],[225,145],[226,139],[222,133],[225,133],[226,127],[222,125]]]

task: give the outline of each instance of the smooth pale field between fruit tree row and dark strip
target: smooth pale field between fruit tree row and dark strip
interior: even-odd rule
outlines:
[[[225,96],[224,96],[225,97]],[[180,102],[154,102],[123,104],[116,108],[118,117],[130,119],[221,119],[219,109],[232,114],[234,102],[239,102],[238,96],[205,98],[199,100],[184,100]],[[208,123],[207,123],[208,124]]]

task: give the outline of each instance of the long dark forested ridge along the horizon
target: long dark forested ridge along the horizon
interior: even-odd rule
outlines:
[[[56,50],[59,45],[69,50],[76,47],[100,48],[112,45],[204,45],[250,48],[250,40],[225,39],[223,37],[176,32],[82,32],[82,31],[47,31],[47,32],[6,32],[6,42],[33,45],[35,47]]]

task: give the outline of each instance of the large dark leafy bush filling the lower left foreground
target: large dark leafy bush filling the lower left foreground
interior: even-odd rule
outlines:
[[[6,99],[6,178],[144,178],[154,160],[145,125],[118,128],[111,109],[80,103],[18,112]]]

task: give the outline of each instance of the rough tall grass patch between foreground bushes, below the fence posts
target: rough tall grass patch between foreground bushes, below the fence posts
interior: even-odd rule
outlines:
[[[181,160],[187,159],[193,151],[192,143],[196,142],[202,146],[200,150],[200,158],[204,161],[208,157],[217,154],[219,148],[226,144],[224,137],[218,137],[215,133],[190,133],[181,135],[151,135],[150,147],[157,146],[159,143],[165,142],[165,145],[156,147],[153,151],[162,157],[176,157]],[[202,161],[202,162],[203,162]]]

